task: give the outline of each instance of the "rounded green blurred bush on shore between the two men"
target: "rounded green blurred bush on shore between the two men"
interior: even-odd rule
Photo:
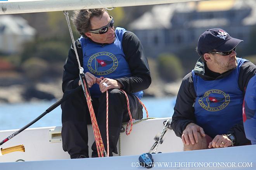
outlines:
[[[160,54],[157,58],[158,71],[161,78],[166,82],[173,82],[183,76],[181,61],[173,54]]]

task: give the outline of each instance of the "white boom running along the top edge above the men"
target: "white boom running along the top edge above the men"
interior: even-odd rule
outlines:
[[[1,0],[0,14],[128,7],[201,0]]]

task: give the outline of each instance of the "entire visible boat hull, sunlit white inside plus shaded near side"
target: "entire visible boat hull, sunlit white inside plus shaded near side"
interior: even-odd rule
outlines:
[[[138,162],[139,155],[146,153],[154,143],[154,137],[163,128],[163,122],[170,118],[157,118],[133,125],[129,136],[121,133],[121,155],[109,158],[86,158],[71,160],[62,150],[61,127],[32,128],[23,131],[15,138],[2,145],[25,146],[25,152],[12,152],[0,156],[1,170],[133,170],[142,169]],[[55,129],[55,130],[54,130]],[[89,148],[93,142],[92,127],[89,126]],[[15,130],[0,131],[0,138],[5,138]],[[154,170],[247,170],[256,169],[256,145],[236,146],[196,151],[182,151],[180,138],[170,129],[164,135],[163,144],[152,154]],[[91,153],[91,151],[90,151]],[[16,162],[24,160],[25,162]],[[203,167],[202,167],[203,166]],[[217,167],[216,167],[217,166]],[[240,167],[239,167],[240,166]]]

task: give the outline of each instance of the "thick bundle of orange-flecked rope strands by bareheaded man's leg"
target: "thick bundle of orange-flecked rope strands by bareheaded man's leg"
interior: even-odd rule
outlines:
[[[94,110],[92,107],[92,99],[87,90],[84,78],[83,78],[83,84],[85,86],[86,101],[87,101],[87,105],[88,105],[91,120],[92,120],[92,128],[93,128],[94,138],[95,138],[95,142],[96,142],[96,146],[97,146],[97,152],[100,157],[104,157],[104,152],[105,152],[104,144],[103,144],[102,137],[100,134],[99,126],[97,124],[95,113],[94,113]]]

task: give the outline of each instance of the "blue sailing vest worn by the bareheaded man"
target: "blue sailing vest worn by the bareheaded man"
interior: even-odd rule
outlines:
[[[116,38],[112,44],[96,44],[90,39],[81,36],[80,41],[83,51],[83,68],[84,72],[90,72],[96,77],[104,78],[121,78],[131,77],[129,65],[125,59],[122,48],[123,35],[126,32],[124,28],[117,27]],[[99,85],[95,83],[89,88],[92,97],[100,97]],[[142,98],[143,92],[134,93],[138,98]]]

